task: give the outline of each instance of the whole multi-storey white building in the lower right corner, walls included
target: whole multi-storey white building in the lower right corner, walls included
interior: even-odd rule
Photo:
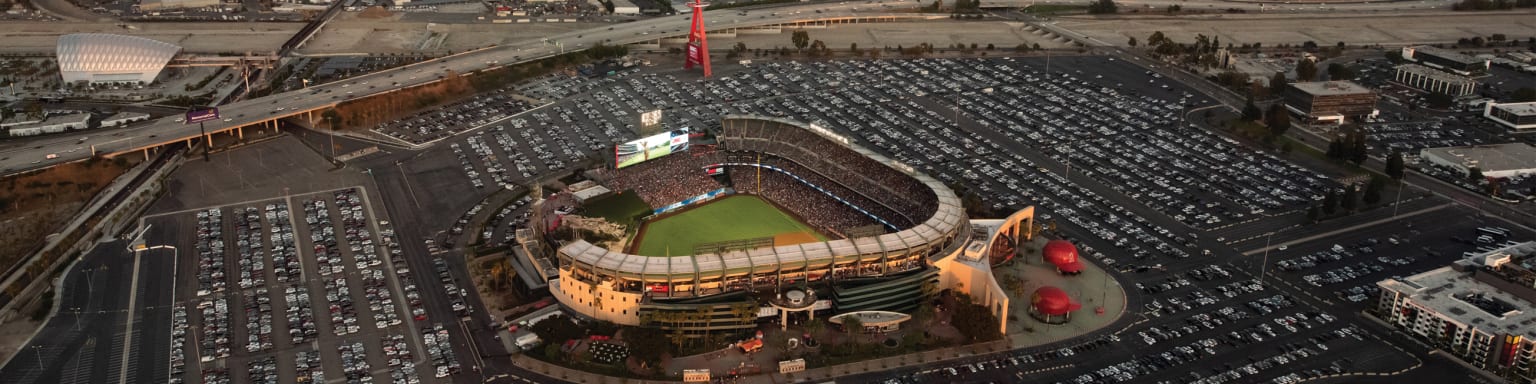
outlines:
[[[1536,382],[1536,243],[1376,283],[1376,316],[1508,382]]]

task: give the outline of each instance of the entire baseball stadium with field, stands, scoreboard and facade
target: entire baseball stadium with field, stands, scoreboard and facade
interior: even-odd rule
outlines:
[[[911,312],[954,289],[1006,323],[989,266],[1028,241],[1034,207],[972,221],[943,183],[817,124],[730,115],[717,132],[660,135],[621,144],[613,167],[587,172],[611,192],[568,210],[622,238],[550,241],[550,292],[570,312],[699,333]]]

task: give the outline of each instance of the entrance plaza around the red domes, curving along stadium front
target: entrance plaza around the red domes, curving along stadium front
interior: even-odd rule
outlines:
[[[1040,258],[1040,247],[1044,241],[1046,240],[1043,238],[1037,238],[1031,244],[1026,244],[1020,249],[1021,253],[1017,258],[997,266],[992,272],[998,284],[1003,284],[1001,281],[1005,281],[1006,276],[1017,276],[1023,281],[1023,289],[1008,290],[1006,286],[1003,289],[1009,296],[1008,333],[1003,335],[1006,341],[932,349],[833,367],[811,367],[806,372],[782,375],[777,373],[780,361],[779,356],[793,358],[797,355],[794,350],[785,353],[786,344],[783,341],[791,336],[799,338],[805,330],[803,327],[791,327],[788,332],[780,332],[777,323],[763,323],[757,327],[763,332],[765,341],[762,350],[759,352],[743,353],[740,349],[728,346],[714,352],[673,358],[670,361],[664,361],[662,364],[667,366],[667,373],[671,376],[682,376],[682,370],[685,369],[710,369],[716,378],[725,376],[730,372],[748,373],[750,376],[740,378],[740,382],[794,382],[797,379],[822,379],[1000,352],[1005,349],[1003,343],[1006,343],[1006,349],[1029,349],[1034,346],[1066,341],[1100,330],[1107,330],[1106,327],[1115,324],[1126,312],[1126,292],[1121,289],[1120,283],[1095,263],[1083,263],[1083,272],[1075,276],[1063,276],[1057,273],[1055,266]],[[1083,307],[1072,312],[1072,319],[1066,324],[1044,324],[1032,318],[1029,315],[1031,296],[1035,289],[1043,286],[1054,286],[1066,290],[1068,295],[1071,295],[1074,301],[1081,303]],[[1103,313],[1097,313],[1100,307],[1104,309]],[[949,310],[935,310],[928,324],[919,326],[909,321],[902,324],[902,329],[897,332],[885,335],[860,335],[859,343],[879,344],[886,338],[900,341],[908,332],[923,330],[937,338],[951,341],[960,339],[960,332],[949,324]],[[819,335],[813,335],[813,338],[828,346],[851,343],[851,339],[848,339],[848,333],[834,330],[831,326],[823,327],[822,332]],[[805,346],[800,346],[799,349],[799,355],[811,355],[819,350],[806,349]],[[822,346],[820,349],[826,349],[826,346]],[[766,375],[751,375],[757,372]]]

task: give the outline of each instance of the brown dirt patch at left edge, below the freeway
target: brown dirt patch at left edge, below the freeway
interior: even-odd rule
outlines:
[[[69,163],[0,180],[0,270],[34,252],[135,163],[134,157]]]

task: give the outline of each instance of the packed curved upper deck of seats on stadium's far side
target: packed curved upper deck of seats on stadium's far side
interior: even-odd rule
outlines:
[[[931,217],[938,207],[934,190],[911,175],[806,129],[762,120],[728,120],[720,143],[730,151],[763,152],[793,160],[814,174],[836,180],[836,184],[849,189],[852,195],[879,203],[860,207],[871,212],[876,206],[894,210],[894,215],[882,218],[897,226],[909,227]],[[849,198],[849,195],[839,197]]]

